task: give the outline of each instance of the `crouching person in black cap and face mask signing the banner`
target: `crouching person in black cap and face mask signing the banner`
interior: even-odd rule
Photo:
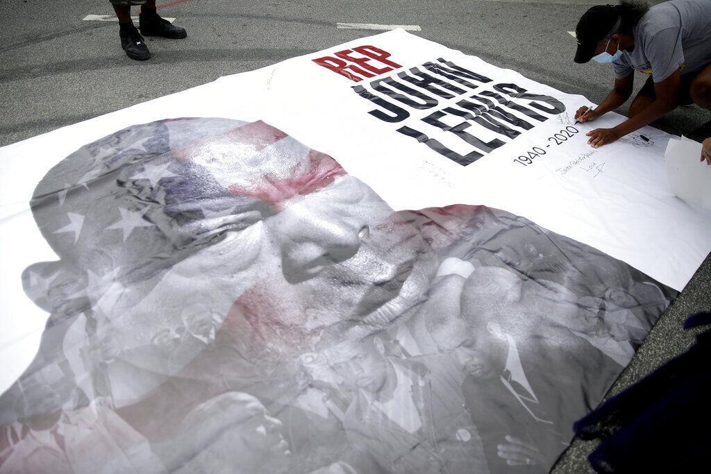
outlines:
[[[612,63],[614,89],[592,110],[581,107],[579,122],[616,109],[632,95],[634,70],[648,75],[629,108],[629,120],[594,129],[588,143],[597,148],[651,124],[678,105],[711,110],[711,2],[671,0],[649,8],[623,0],[593,6],[575,30],[574,61]]]

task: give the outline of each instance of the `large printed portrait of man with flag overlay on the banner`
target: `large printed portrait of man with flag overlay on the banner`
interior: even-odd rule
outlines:
[[[264,122],[129,126],[30,206],[58,258],[1,473],[547,472],[675,296],[504,210],[393,210]]]

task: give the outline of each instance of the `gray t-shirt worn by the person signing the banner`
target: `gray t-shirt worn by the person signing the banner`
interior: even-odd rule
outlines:
[[[615,77],[633,70],[661,82],[711,63],[711,0],[671,0],[651,7],[633,28],[634,50],[615,60]]]

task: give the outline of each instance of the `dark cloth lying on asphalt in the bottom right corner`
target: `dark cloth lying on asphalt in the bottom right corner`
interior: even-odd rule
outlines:
[[[685,328],[711,325],[711,312],[688,318]],[[599,473],[696,472],[707,463],[711,438],[711,328],[682,355],[612,397],[578,421],[583,439],[601,438],[588,457]]]

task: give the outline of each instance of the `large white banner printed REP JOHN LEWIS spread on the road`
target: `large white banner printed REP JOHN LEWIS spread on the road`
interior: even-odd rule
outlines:
[[[171,439],[207,456],[199,445],[220,427],[183,432],[205,416],[256,406],[282,423],[282,410],[305,416],[319,436],[345,436],[387,471],[441,461],[459,472],[475,459],[497,472],[506,436],[540,439],[540,456],[528,460],[550,466],[670,289],[682,289],[711,250],[711,213],[668,188],[670,136],[646,127],[592,149],[585,133],[623,117],[574,124],[581,105],[584,97],[391,31],[0,149],[0,389],[12,385],[0,404],[17,413],[2,422],[23,433],[32,410],[72,402],[81,409],[60,419],[122,431],[157,470],[183,462]],[[321,254],[314,242],[324,235],[338,239]],[[479,380],[491,370],[476,362],[483,334],[503,355],[491,385]],[[41,335],[31,371],[13,384]],[[539,347],[539,336],[552,345]],[[250,367],[232,364],[235,341],[254,352]],[[351,355],[389,367],[380,379],[387,397],[373,380],[343,375],[341,365],[358,365]],[[559,387],[546,364],[571,382]],[[279,375],[283,387],[262,386],[260,374]],[[190,381],[185,399],[160,406],[173,384]],[[510,406],[481,416],[492,397]],[[422,411],[432,399],[451,424]],[[87,421],[81,401],[104,421]],[[151,416],[169,408],[179,413],[166,411],[177,417],[166,440]],[[433,439],[422,434],[428,423]],[[294,448],[304,440],[274,436],[282,467],[370,466],[333,450],[311,464],[315,451]],[[430,465],[427,450],[440,441]],[[34,445],[16,444],[20,462]],[[390,458],[416,446],[417,456]]]

